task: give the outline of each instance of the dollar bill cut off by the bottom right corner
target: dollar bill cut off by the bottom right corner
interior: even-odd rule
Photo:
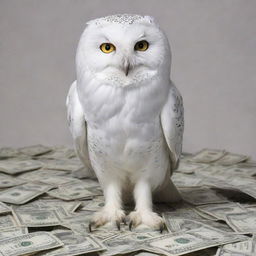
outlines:
[[[256,236],[243,242],[226,244],[220,247],[216,256],[254,256],[256,255]]]

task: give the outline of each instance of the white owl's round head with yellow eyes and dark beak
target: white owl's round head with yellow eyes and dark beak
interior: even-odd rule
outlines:
[[[167,37],[153,17],[118,14],[87,22],[76,53],[78,82],[127,87],[170,79]]]

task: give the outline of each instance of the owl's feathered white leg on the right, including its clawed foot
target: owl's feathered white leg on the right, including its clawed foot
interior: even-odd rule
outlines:
[[[145,224],[162,232],[165,229],[163,219],[152,210],[152,192],[148,181],[140,180],[134,187],[135,211],[129,214],[129,228]]]

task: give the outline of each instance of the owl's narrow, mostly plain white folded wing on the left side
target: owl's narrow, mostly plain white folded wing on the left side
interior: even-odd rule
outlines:
[[[84,177],[95,177],[88,153],[87,125],[78,98],[76,81],[70,86],[66,99],[66,107],[68,125],[74,139],[76,153],[85,165],[86,173],[84,173]]]

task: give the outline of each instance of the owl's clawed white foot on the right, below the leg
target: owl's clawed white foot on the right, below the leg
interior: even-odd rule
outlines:
[[[150,228],[159,230],[161,233],[166,229],[166,225],[162,217],[157,213],[152,211],[133,211],[128,216],[129,229],[132,230],[133,227],[137,227],[140,224],[145,224]]]

